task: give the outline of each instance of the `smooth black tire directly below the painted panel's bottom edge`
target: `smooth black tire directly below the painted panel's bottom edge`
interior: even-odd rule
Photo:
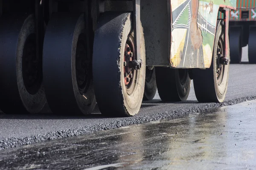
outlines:
[[[188,69],[156,67],[157,89],[164,102],[186,101],[190,82]]]

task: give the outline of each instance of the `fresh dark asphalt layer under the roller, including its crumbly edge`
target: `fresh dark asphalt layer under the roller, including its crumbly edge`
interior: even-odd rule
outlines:
[[[133,117],[107,118],[99,113],[97,107],[89,116],[59,116],[50,113],[47,105],[42,113],[38,114],[7,115],[0,112],[0,150],[143,122],[177,118],[189,113],[256,99],[256,65],[246,63],[248,59],[245,53],[242,61],[244,64],[230,65],[228,91],[225,102],[221,104],[198,103],[192,83],[186,102],[163,103],[156,94],[153,100],[143,102],[140,112]]]

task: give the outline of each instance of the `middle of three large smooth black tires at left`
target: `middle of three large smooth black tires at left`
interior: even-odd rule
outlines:
[[[80,51],[77,51],[78,47]],[[87,51],[84,14],[53,13],[44,38],[43,75],[45,94],[49,108],[58,114],[82,115],[92,113],[94,96],[91,55]],[[80,53],[82,52],[82,53]],[[78,65],[76,58],[87,59],[90,64],[84,68],[88,73],[83,92],[77,82]],[[76,63],[77,62],[77,63]],[[80,63],[80,62],[79,62]],[[81,64],[81,63],[80,63]]]

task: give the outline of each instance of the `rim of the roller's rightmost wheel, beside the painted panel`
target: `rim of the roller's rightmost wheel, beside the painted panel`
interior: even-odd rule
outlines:
[[[216,76],[217,76],[217,82],[218,85],[221,85],[221,82],[223,80],[224,77],[224,69],[225,69],[225,65],[221,64],[221,57],[223,56],[223,49],[224,49],[224,42],[222,40],[222,38],[219,38],[218,41],[218,47],[217,47],[217,55],[216,55],[216,62],[217,62],[217,67],[216,67]]]

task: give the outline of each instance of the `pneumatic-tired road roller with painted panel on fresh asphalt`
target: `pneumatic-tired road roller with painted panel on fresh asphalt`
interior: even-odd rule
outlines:
[[[89,114],[97,102],[106,116],[133,116],[157,88],[165,102],[185,101],[191,79],[199,102],[223,102],[235,9],[236,0],[0,0],[0,109]]]

